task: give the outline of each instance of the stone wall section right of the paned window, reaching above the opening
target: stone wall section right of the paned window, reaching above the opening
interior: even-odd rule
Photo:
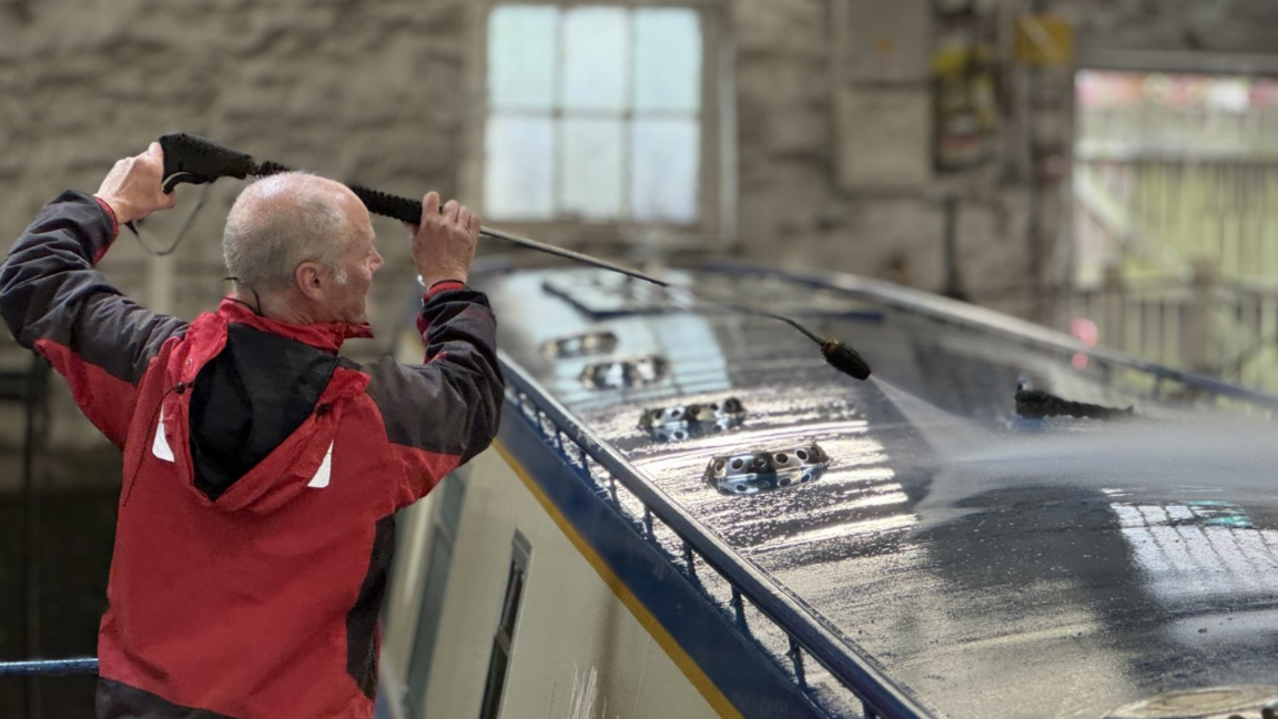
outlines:
[[[978,0],[978,5],[1007,22],[1031,6],[1061,15],[1074,24],[1082,55],[1093,49],[1274,52],[1278,47],[1274,3]],[[1001,151],[988,165],[938,175],[911,191],[847,192],[837,188],[835,166],[832,0],[736,0],[731,28],[740,242],[746,255],[782,265],[837,267],[933,292],[947,289],[950,278],[956,278],[957,289],[976,301],[1042,319],[1045,304],[1035,303],[1035,288],[1067,280],[1070,68],[1024,73],[1002,65]],[[947,202],[956,202],[952,274],[943,249]]]

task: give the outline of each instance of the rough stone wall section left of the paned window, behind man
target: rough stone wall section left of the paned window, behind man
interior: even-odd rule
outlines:
[[[468,13],[463,0],[0,0],[0,237],[15,238],[65,188],[93,192],[116,159],[176,129],[390,192],[452,194],[470,92]],[[171,257],[150,257],[123,234],[102,270],[162,311],[193,317],[216,306],[221,225],[239,187],[212,186]],[[144,239],[166,243],[199,194],[181,188],[175,211],[144,223]],[[408,243],[380,244],[386,267],[372,303],[382,340],[357,353],[385,348],[415,274]],[[161,265],[171,276],[152,271]],[[26,363],[8,349],[5,366]],[[95,441],[54,385],[52,443]],[[13,418],[0,409],[6,429]]]

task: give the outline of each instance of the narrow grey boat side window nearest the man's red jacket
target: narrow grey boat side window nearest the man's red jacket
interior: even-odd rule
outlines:
[[[431,656],[440,631],[443,612],[443,592],[449,585],[452,565],[452,548],[456,545],[461,522],[461,504],[465,498],[463,477],[449,476],[436,490],[441,493],[435,505],[431,528],[431,560],[427,564],[426,585],[422,587],[422,606],[417,622],[413,656],[408,664],[408,707],[410,716],[420,716],[426,707],[426,690],[431,679]]]

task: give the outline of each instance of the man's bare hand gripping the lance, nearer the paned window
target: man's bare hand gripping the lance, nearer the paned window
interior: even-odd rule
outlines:
[[[429,288],[441,280],[466,281],[479,242],[479,217],[456,200],[440,210],[440,193],[422,198],[422,224],[413,228],[413,264]]]

